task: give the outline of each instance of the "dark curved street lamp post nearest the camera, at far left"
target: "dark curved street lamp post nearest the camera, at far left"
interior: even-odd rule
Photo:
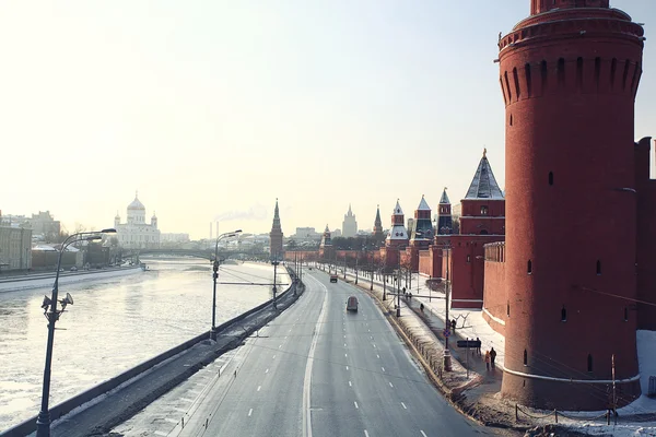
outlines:
[[[52,285],[52,295],[50,298],[46,296],[42,308],[44,308],[44,315],[48,319],[48,343],[46,345],[46,366],[44,368],[44,386],[42,394],[42,409],[36,417],[36,436],[37,437],[49,437],[50,436],[50,411],[48,409],[48,402],[50,398],[50,367],[52,365],[52,345],[55,343],[55,323],[59,320],[59,316],[63,312],[68,304],[72,304],[70,295],[67,295],[66,299],[61,299],[61,310],[57,309],[57,298],[59,295],[59,270],[61,269],[61,256],[66,248],[77,241],[92,241],[102,239],[99,234],[113,234],[116,229],[107,228],[99,232],[85,232],[78,233],[69,236],[63,240],[59,248],[59,257],[57,259],[57,273],[55,274],[55,284]],[[50,310],[48,311],[48,307]]]

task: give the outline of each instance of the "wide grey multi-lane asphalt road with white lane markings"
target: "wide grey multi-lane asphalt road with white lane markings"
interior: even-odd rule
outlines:
[[[304,282],[300,300],[221,367],[185,427],[159,435],[494,434],[444,400],[365,293],[316,270]],[[347,314],[352,295],[360,308]]]

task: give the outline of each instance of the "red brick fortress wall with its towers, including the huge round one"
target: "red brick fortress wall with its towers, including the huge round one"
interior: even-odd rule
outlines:
[[[652,140],[634,142],[643,34],[608,0],[531,0],[499,40],[506,192],[483,152],[457,234],[444,190],[436,226],[422,197],[406,229],[397,201],[383,247],[336,251],[326,226],[304,259],[448,280],[452,307],[505,336],[506,398],[600,411],[614,382],[632,402],[636,330],[656,330]]]

